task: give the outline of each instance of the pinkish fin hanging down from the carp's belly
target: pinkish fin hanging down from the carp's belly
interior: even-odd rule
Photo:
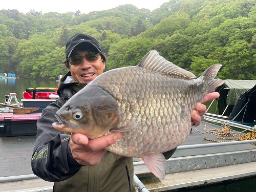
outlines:
[[[167,163],[163,154],[145,155],[140,159],[145,162],[146,166],[157,178],[164,179]]]

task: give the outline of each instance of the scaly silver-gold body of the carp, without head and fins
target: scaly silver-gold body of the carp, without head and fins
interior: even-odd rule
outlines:
[[[116,98],[122,114],[118,127],[137,123],[136,128],[123,133],[120,142],[108,147],[109,151],[141,157],[171,150],[185,140],[190,133],[191,110],[207,91],[206,86],[197,86],[199,80],[178,79],[138,67],[120,68],[112,70],[111,75],[105,74],[91,84],[108,90]],[[130,143],[137,144],[130,147]]]

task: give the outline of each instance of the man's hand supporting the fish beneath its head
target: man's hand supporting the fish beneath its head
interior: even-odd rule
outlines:
[[[73,158],[81,165],[92,166],[100,163],[105,154],[104,148],[120,140],[122,134],[116,132],[96,139],[88,139],[79,133],[71,133],[70,150]]]

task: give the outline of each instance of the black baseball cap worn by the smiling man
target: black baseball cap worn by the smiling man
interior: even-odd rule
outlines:
[[[81,44],[83,43],[83,44]],[[99,45],[99,41],[87,34],[83,33],[76,33],[73,36],[71,36],[66,44],[66,58],[70,57],[70,54],[72,53],[73,49],[77,46],[81,45],[83,47],[88,47],[92,51],[96,51],[101,53],[101,48]]]

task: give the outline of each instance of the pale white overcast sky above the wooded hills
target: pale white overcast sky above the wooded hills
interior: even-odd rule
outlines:
[[[67,5],[67,2],[72,2]],[[48,12],[76,12],[89,13],[91,11],[102,11],[108,10],[119,5],[132,4],[137,8],[146,8],[153,11],[159,8],[163,3],[168,2],[168,0],[84,0],[84,1],[60,1],[60,0],[2,0],[0,4],[0,10],[2,9],[17,9],[19,12],[28,13],[30,10],[35,10],[37,12],[48,13]]]

